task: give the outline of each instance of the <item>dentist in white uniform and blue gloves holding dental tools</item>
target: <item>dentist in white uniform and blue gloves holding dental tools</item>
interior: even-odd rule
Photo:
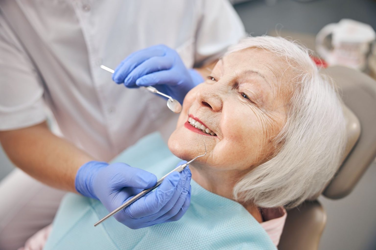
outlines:
[[[22,171],[0,183],[0,249],[17,249],[49,225],[65,191],[112,210],[153,186],[155,175],[107,163],[177,118],[137,87],[155,85],[182,102],[244,34],[227,0],[1,1],[0,142]],[[113,79],[127,88],[100,64],[118,65]],[[190,176],[171,175],[116,219],[130,228],[179,219]]]

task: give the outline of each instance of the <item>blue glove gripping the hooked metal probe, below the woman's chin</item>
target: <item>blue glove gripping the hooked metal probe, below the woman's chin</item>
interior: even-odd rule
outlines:
[[[131,229],[179,220],[191,201],[191,176],[189,166],[171,173],[154,191],[115,214],[115,219]],[[99,199],[111,212],[156,182],[154,174],[125,163],[91,161],[77,171],[75,187],[83,196]]]

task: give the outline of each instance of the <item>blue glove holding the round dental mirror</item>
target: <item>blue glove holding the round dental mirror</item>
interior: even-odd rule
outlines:
[[[180,103],[188,91],[204,81],[199,72],[186,69],[179,54],[165,45],[133,52],[117,66],[112,79],[128,88],[153,85]]]

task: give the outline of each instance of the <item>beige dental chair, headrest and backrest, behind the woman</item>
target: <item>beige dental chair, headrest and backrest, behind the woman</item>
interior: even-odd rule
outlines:
[[[346,107],[348,141],[343,163],[323,190],[330,199],[347,196],[376,157],[376,81],[342,66],[326,72],[339,87]],[[279,250],[317,250],[326,213],[317,200],[305,201],[287,213]]]

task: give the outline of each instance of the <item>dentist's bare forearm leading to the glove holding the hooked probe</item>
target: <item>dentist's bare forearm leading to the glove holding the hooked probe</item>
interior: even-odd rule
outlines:
[[[45,122],[25,129],[1,131],[0,142],[18,168],[42,183],[70,192],[76,192],[77,170],[94,160],[53,135]]]

